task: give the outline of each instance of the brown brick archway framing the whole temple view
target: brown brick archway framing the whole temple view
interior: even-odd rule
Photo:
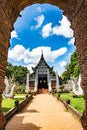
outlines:
[[[19,13],[26,6],[35,3],[49,3],[60,7],[71,22],[76,38],[76,48],[82,75],[85,111],[81,119],[84,130],[87,129],[87,0],[1,0],[0,1],[0,130],[4,129],[1,111],[4,77],[9,47],[10,32]]]

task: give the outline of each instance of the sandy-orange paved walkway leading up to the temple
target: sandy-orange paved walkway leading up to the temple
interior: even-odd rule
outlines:
[[[13,116],[5,130],[83,130],[80,122],[52,95],[39,94]]]

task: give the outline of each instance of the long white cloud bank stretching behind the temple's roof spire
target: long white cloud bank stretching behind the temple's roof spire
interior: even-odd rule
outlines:
[[[29,68],[31,67],[31,65],[35,66],[39,62],[42,50],[46,62],[54,62],[56,58],[58,58],[61,55],[64,55],[67,52],[66,47],[52,51],[51,47],[42,46],[30,51],[29,49],[25,49],[22,45],[16,45],[13,49],[9,49],[8,58],[14,61],[23,60],[25,64],[29,64]]]

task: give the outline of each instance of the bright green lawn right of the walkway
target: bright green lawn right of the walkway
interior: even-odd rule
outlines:
[[[85,108],[85,101],[83,97],[77,97],[73,98],[70,93],[61,93],[60,95],[61,99],[63,100],[70,100],[70,105],[73,106],[75,109],[77,109],[80,113],[83,113]]]

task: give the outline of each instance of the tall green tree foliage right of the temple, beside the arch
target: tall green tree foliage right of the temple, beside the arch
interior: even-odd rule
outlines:
[[[63,72],[61,78],[63,83],[66,83],[71,76],[78,77],[80,73],[77,52],[75,51],[70,58],[70,63],[65,67],[65,71]]]

